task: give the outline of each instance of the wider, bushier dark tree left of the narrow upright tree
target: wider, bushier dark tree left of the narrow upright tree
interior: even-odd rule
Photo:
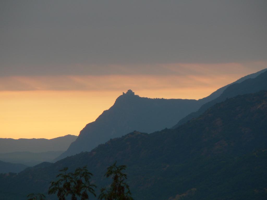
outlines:
[[[67,170],[68,167],[60,170],[62,173],[57,175],[60,179],[51,182],[48,194],[57,193],[59,200],[65,200],[68,195],[71,196],[71,200],[77,200],[77,197],[81,197],[81,200],[89,199],[88,192],[96,197],[94,190],[96,185],[90,183],[93,174],[86,166],[78,167],[74,173],[67,173]]]

